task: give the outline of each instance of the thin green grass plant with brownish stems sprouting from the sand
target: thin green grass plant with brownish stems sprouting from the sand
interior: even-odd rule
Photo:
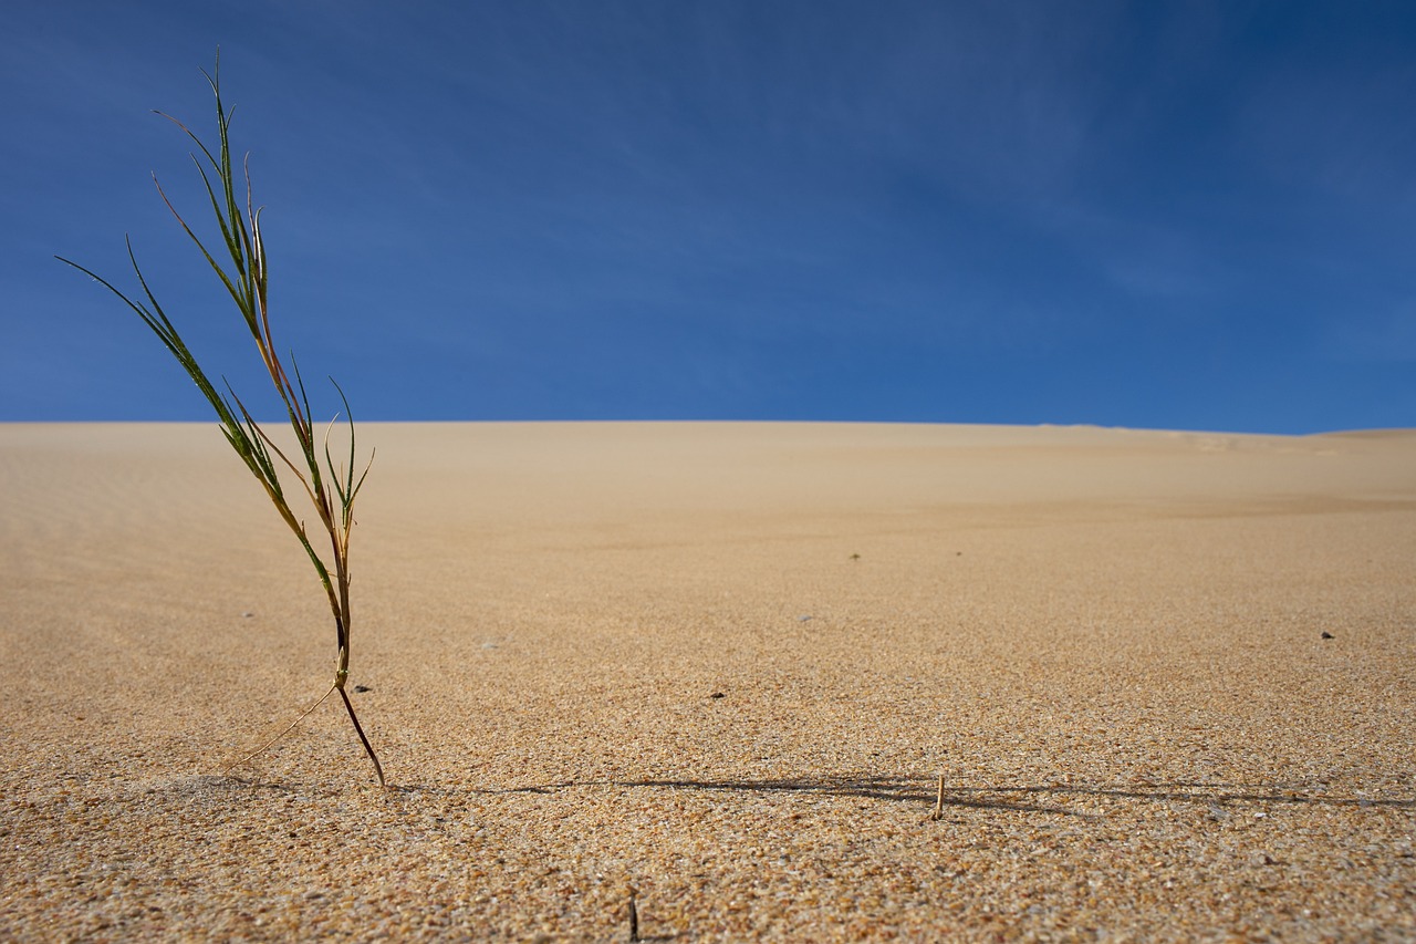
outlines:
[[[167,208],[171,210],[183,231],[185,231],[201,251],[201,255],[241,310],[241,318],[255,339],[266,374],[270,377],[290,428],[295,431],[295,441],[299,448],[297,459],[292,461],[290,455],[287,455],[287,451],[289,454],[295,452],[289,449],[289,445],[286,449],[276,445],[275,439],[252,418],[251,411],[246,410],[245,403],[242,403],[229,384],[222,381],[227,394],[229,394],[228,398],[201,369],[195,356],[177,332],[177,327],[169,320],[161,305],[159,305],[149,289],[147,279],[143,278],[142,268],[137,265],[137,257],[133,252],[130,238],[127,240],[127,257],[133,265],[133,272],[137,275],[137,283],[142,286],[146,302],[135,300],[78,262],[71,262],[62,257],[58,258],[61,262],[72,265],[92,276],[120,298],[157,335],[171,356],[177,359],[177,363],[181,364],[183,370],[187,371],[187,376],[191,377],[193,383],[197,384],[197,388],[207,398],[207,403],[215,410],[227,442],[235,449],[251,475],[261,482],[266,498],[270,499],[280,519],[300,541],[329,598],[330,611],[334,615],[336,642],[338,645],[334,682],[290,727],[255,753],[242,758],[242,761],[238,761],[238,764],[249,761],[269,748],[307,717],[310,712],[323,704],[326,699],[338,692],[350,721],[354,724],[354,731],[364,746],[364,753],[374,763],[374,771],[378,774],[378,782],[382,785],[385,784],[384,768],[378,763],[378,755],[364,734],[364,729],[358,723],[358,716],[354,713],[354,704],[344,689],[350,675],[350,532],[354,527],[354,499],[358,496],[368,475],[372,454],[370,454],[368,463],[364,463],[362,472],[358,472],[354,448],[354,420],[350,415],[350,405],[344,397],[344,391],[331,377],[330,383],[334,384],[334,390],[338,393],[340,401],[344,405],[344,417],[348,422],[348,461],[347,465],[343,461],[336,465],[330,452],[330,432],[338,421],[338,414],[330,421],[323,435],[319,435],[310,418],[310,401],[304,390],[304,381],[300,378],[300,370],[295,363],[295,354],[289,356],[289,369],[286,369],[285,363],[276,354],[275,340],[270,335],[270,313],[266,303],[268,269],[265,244],[261,240],[261,210],[255,207],[252,198],[249,156],[242,162],[239,180],[232,163],[229,130],[234,109],[227,109],[222,105],[219,67],[221,58],[218,54],[217,67],[212,72],[207,74],[202,71],[217,99],[219,146],[215,153],[180,120],[163,112],[157,113],[177,125],[197,145],[197,152],[191,154],[191,159],[201,174],[202,184],[205,184],[207,196],[211,198],[211,210],[221,230],[222,249],[229,257],[229,266],[218,262],[202,240],[187,225],[187,221],[167,198],[156,176],[153,181],[157,184],[157,193],[161,196],[163,203],[167,204]],[[313,539],[306,530],[304,522],[290,507],[290,492],[286,490],[280,481],[282,468],[292,472],[299,482],[300,488],[295,490],[295,495],[297,496],[303,490],[304,496],[314,505],[320,532]],[[326,539],[329,540],[327,557],[321,557],[314,549],[314,541],[323,543]]]

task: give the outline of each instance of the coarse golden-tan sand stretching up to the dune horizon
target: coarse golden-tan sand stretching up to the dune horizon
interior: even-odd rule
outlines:
[[[1412,940],[1416,432],[0,425],[0,938]],[[943,815],[932,821],[939,777]]]

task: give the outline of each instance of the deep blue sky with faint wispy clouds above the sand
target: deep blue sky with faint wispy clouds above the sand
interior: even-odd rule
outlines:
[[[125,232],[265,403],[150,179],[218,44],[362,420],[1416,425],[1416,4],[1301,0],[11,4],[0,420],[207,418]]]

